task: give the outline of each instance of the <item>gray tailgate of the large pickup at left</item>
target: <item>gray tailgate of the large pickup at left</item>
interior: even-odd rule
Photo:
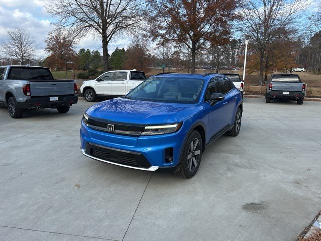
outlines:
[[[35,96],[58,96],[74,94],[73,81],[29,81],[30,95]]]

